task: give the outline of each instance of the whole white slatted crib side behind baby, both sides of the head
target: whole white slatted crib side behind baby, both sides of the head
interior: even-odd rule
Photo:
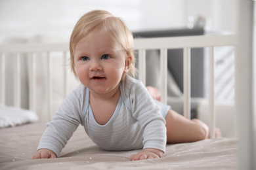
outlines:
[[[214,47],[215,46],[236,46],[235,35],[201,35],[189,37],[165,37],[165,38],[150,38],[150,39],[135,39],[135,49],[139,50],[139,79],[145,84],[146,82],[146,52],[145,50],[160,50],[160,80],[161,80],[161,100],[167,103],[167,49],[182,48],[184,51],[184,116],[190,118],[190,49],[199,47],[209,47],[209,127],[211,137],[215,137],[215,97],[214,97]],[[14,105],[20,107],[20,54],[30,54],[30,109],[35,109],[35,60],[36,52],[47,52],[48,58],[48,106],[49,118],[53,112],[53,77],[51,69],[53,68],[50,52],[63,52],[64,62],[66,63],[66,54],[68,52],[68,44],[5,44],[0,46],[1,53],[1,101],[5,103],[5,54],[16,53],[16,62],[14,71]],[[66,71],[64,71],[66,75]],[[67,76],[64,76],[67,78]],[[64,82],[68,82],[67,79]],[[68,93],[67,84],[65,85],[64,93]]]

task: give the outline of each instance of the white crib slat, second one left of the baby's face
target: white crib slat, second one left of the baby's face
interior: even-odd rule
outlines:
[[[50,52],[47,52],[47,62],[48,120],[51,120],[53,112],[53,61]]]

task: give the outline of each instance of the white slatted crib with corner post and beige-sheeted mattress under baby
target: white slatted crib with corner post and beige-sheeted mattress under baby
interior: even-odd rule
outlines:
[[[9,110],[5,104],[9,104],[7,98],[7,88],[12,86],[8,83],[9,77],[7,77],[6,60],[9,54],[14,55],[14,71],[13,71],[13,99],[11,105],[15,110],[15,116],[19,112],[24,115],[30,115],[30,119],[25,124],[7,127],[0,129],[1,139],[1,156],[0,156],[0,169],[46,169],[46,168],[60,168],[60,169],[234,169],[239,167],[240,169],[253,169],[253,153],[250,148],[253,146],[253,135],[255,135],[255,129],[253,129],[253,123],[248,119],[253,118],[251,115],[240,116],[240,112],[243,112],[245,107],[247,109],[245,113],[254,112],[255,106],[248,105],[246,102],[254,100],[251,91],[244,90],[245,87],[249,87],[250,90],[255,90],[251,84],[253,82],[253,65],[249,65],[253,61],[253,58],[240,58],[240,54],[245,52],[243,48],[238,48],[238,39],[243,42],[247,42],[243,37],[238,37],[235,34],[225,35],[200,35],[190,37],[162,37],[162,38],[149,38],[149,39],[135,39],[135,50],[138,52],[139,73],[138,78],[144,84],[146,83],[146,50],[157,49],[160,50],[160,80],[161,80],[161,101],[167,103],[167,49],[182,48],[183,49],[183,65],[184,65],[184,116],[190,118],[190,50],[191,48],[203,47],[208,51],[208,69],[209,69],[209,128],[211,139],[198,141],[196,143],[182,143],[182,144],[167,144],[166,154],[159,160],[144,160],[144,161],[130,161],[131,154],[135,154],[137,150],[131,150],[126,152],[107,152],[100,150],[96,144],[94,144],[83,131],[83,127],[79,127],[75,131],[74,136],[62,153],[60,158],[53,160],[28,160],[33,155],[37,148],[37,144],[45,129],[45,124],[36,122],[39,118],[44,118],[46,121],[51,120],[58,104],[54,103],[54,86],[56,86],[56,80],[53,72],[56,71],[56,67],[61,69],[57,71],[58,75],[62,73],[61,84],[62,99],[72,89],[70,82],[75,82],[75,78],[70,75],[68,65],[69,48],[68,43],[59,44],[3,44],[0,46],[0,59],[1,59],[1,84],[0,84],[0,103],[5,110]],[[235,52],[235,110],[237,115],[237,122],[240,124],[240,133],[245,133],[250,127],[249,133],[240,136],[240,143],[238,139],[230,138],[215,138],[215,47],[216,46],[234,46]],[[245,45],[246,47],[246,45]],[[238,50],[239,49],[239,50]],[[241,50],[242,49],[242,50]],[[247,50],[249,51],[249,50]],[[250,51],[252,51],[250,49]],[[54,55],[58,52],[57,60],[61,60],[61,64],[55,65]],[[25,56],[24,56],[25,55]],[[248,54],[248,56],[252,56]],[[26,58],[28,66],[22,64],[22,58]],[[41,62],[41,59],[44,62]],[[53,61],[54,60],[54,61]],[[254,61],[255,62],[255,61]],[[38,64],[39,63],[39,64]],[[38,68],[42,66],[45,68],[46,74],[43,80],[38,81]],[[255,63],[254,63],[255,65]],[[21,107],[22,99],[22,68],[26,67],[26,73],[28,73],[28,110],[17,108]],[[41,68],[41,67],[40,67]],[[254,71],[254,72],[251,72]],[[254,80],[255,81],[255,80]],[[45,83],[43,89],[43,95],[47,108],[40,112],[42,108],[38,108],[41,101],[38,86],[39,82]],[[77,82],[75,82],[77,83]],[[74,84],[75,84],[74,83]],[[255,91],[253,91],[255,93]],[[42,93],[40,93],[42,94]],[[254,95],[255,96],[255,95]],[[38,104],[39,103],[39,104]],[[250,101],[253,103],[253,101]],[[9,104],[10,105],[10,104]],[[253,110],[254,109],[254,110]],[[17,114],[18,112],[18,114]],[[37,115],[36,115],[36,114]],[[11,113],[10,113],[11,114]],[[35,114],[32,116],[32,114]],[[43,115],[42,115],[43,114]],[[253,114],[252,114],[253,115]],[[241,119],[241,120],[240,120]],[[33,123],[28,123],[33,122]],[[30,141],[28,141],[30,139]],[[249,145],[248,145],[249,144]],[[238,147],[239,145],[239,147]],[[238,149],[239,148],[239,149]],[[255,149],[255,148],[254,148]],[[239,151],[239,152],[238,152]],[[238,152],[238,155],[237,155]],[[237,163],[238,161],[238,163]]]

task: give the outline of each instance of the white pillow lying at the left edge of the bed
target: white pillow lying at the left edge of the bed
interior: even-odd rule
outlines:
[[[37,114],[31,110],[7,107],[0,104],[0,128],[37,121]]]

